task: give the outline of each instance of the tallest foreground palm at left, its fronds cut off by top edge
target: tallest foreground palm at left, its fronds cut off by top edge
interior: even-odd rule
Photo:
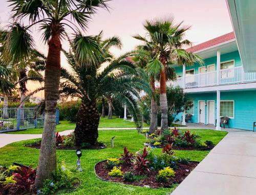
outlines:
[[[6,55],[12,62],[29,59],[33,51],[34,41],[29,30],[37,25],[42,31],[42,37],[48,44],[48,56],[45,69],[45,125],[42,134],[41,148],[35,181],[36,187],[41,187],[45,179],[51,178],[51,172],[56,169],[56,145],[55,145],[55,110],[58,99],[60,83],[60,52],[61,38],[66,29],[78,31],[85,30],[92,15],[98,8],[108,8],[109,0],[9,0],[12,7],[12,18],[15,23],[10,26],[6,47]],[[23,26],[24,18],[29,19],[29,25]],[[88,39],[78,39],[84,50],[90,50]],[[78,46],[78,45],[77,45]],[[76,47],[79,49],[78,47]],[[94,61],[93,52],[79,56],[79,61]]]

